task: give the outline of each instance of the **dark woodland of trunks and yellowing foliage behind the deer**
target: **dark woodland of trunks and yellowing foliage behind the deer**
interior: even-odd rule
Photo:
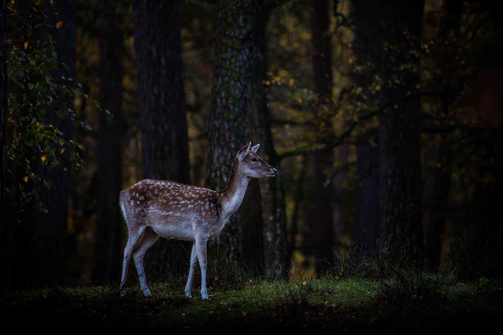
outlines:
[[[278,175],[249,183],[212,257],[323,273],[389,239],[436,267],[455,232],[501,239],[498,2],[1,4],[5,287],[118,282],[119,192],[220,190],[250,141]],[[146,272],[185,269],[190,247],[159,239]]]

